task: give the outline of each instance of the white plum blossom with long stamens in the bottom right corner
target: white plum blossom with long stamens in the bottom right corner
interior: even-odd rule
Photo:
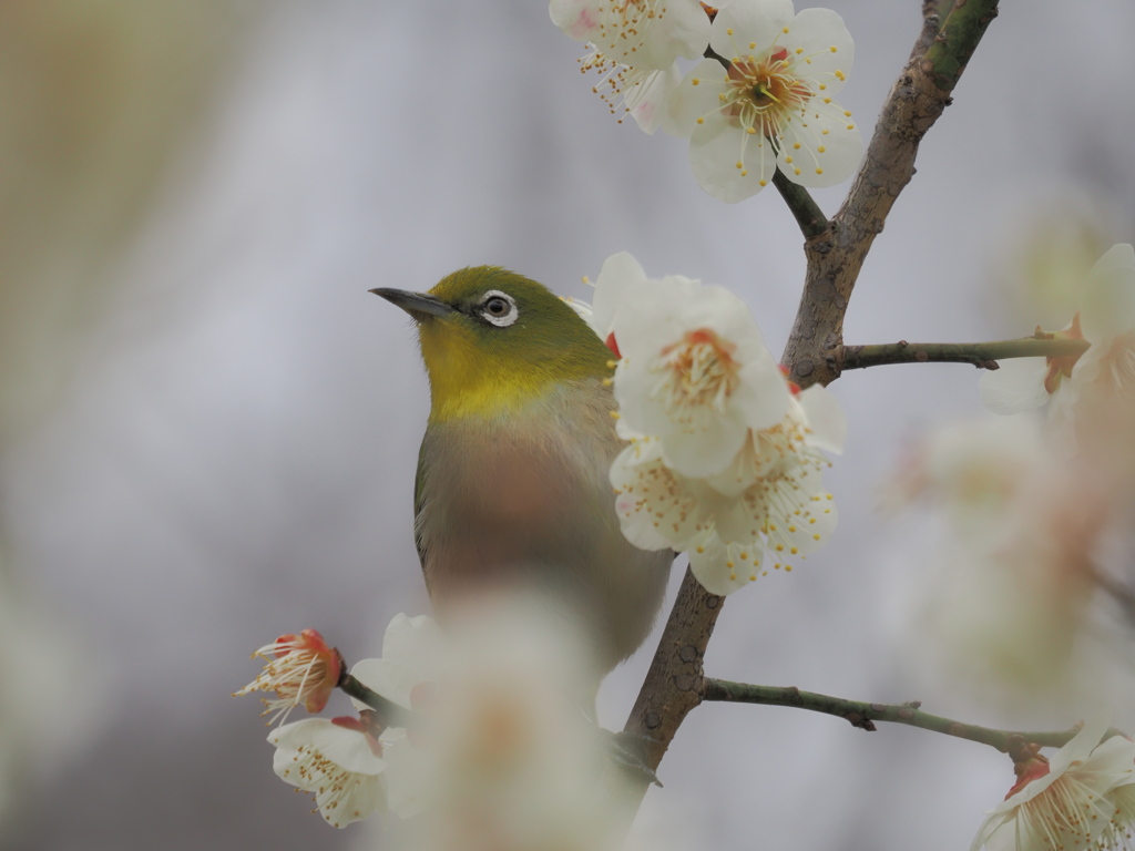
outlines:
[[[1056,851],[1132,846],[1135,742],[1107,724],[1085,724],[1051,760],[1017,764],[1018,782],[990,811],[970,851]]]

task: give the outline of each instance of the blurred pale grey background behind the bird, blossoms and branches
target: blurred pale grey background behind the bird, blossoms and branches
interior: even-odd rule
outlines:
[[[866,129],[919,3],[830,6]],[[1022,307],[1026,261],[1132,239],[1133,39],[1129,0],[1003,3],[875,244],[849,343],[1051,326]],[[616,125],[580,52],[540,0],[0,8],[0,848],[381,845],[311,816],[271,773],[259,705],[229,697],[279,633],[318,627],[353,660],[427,610],[427,385],[407,319],[370,287],[496,263],[586,297],[581,276],[629,250],[734,288],[781,351],[804,270],[783,203],[703,194],[686,143]],[[815,194],[832,212],[843,191]],[[925,530],[881,515],[880,482],[923,429],[980,411],[976,371],[888,366],[833,391],[840,529],[730,598],[707,672],[990,725],[1067,726],[1102,696],[1135,724],[1120,654],[1099,692],[1052,706],[910,651]],[[604,686],[607,726],[655,642]],[[897,851],[967,848],[1011,766],[920,731],[708,705],[661,776],[644,829],[674,848]]]

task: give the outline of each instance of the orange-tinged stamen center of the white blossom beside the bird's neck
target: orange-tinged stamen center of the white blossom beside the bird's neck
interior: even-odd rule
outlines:
[[[666,346],[650,371],[659,381],[650,394],[662,398],[671,418],[689,422],[696,411],[725,411],[740,384],[741,364],[733,359],[734,346],[708,328],[687,331],[679,343]]]

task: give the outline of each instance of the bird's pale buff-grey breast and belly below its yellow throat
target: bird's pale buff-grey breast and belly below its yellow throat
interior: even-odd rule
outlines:
[[[430,424],[415,531],[439,614],[480,590],[532,588],[596,638],[604,669],[641,643],[673,554],[620,532],[612,408],[608,388],[579,381],[506,418]]]

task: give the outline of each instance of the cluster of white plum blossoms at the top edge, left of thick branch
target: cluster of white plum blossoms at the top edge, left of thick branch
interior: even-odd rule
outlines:
[[[855,45],[830,9],[792,0],[550,0],[553,22],[589,44],[583,70],[612,111],[647,133],[690,140],[690,166],[716,199],[737,202],[779,169],[791,183],[833,186],[859,162],[863,140],[833,96]],[[712,57],[684,76],[679,59]]]

